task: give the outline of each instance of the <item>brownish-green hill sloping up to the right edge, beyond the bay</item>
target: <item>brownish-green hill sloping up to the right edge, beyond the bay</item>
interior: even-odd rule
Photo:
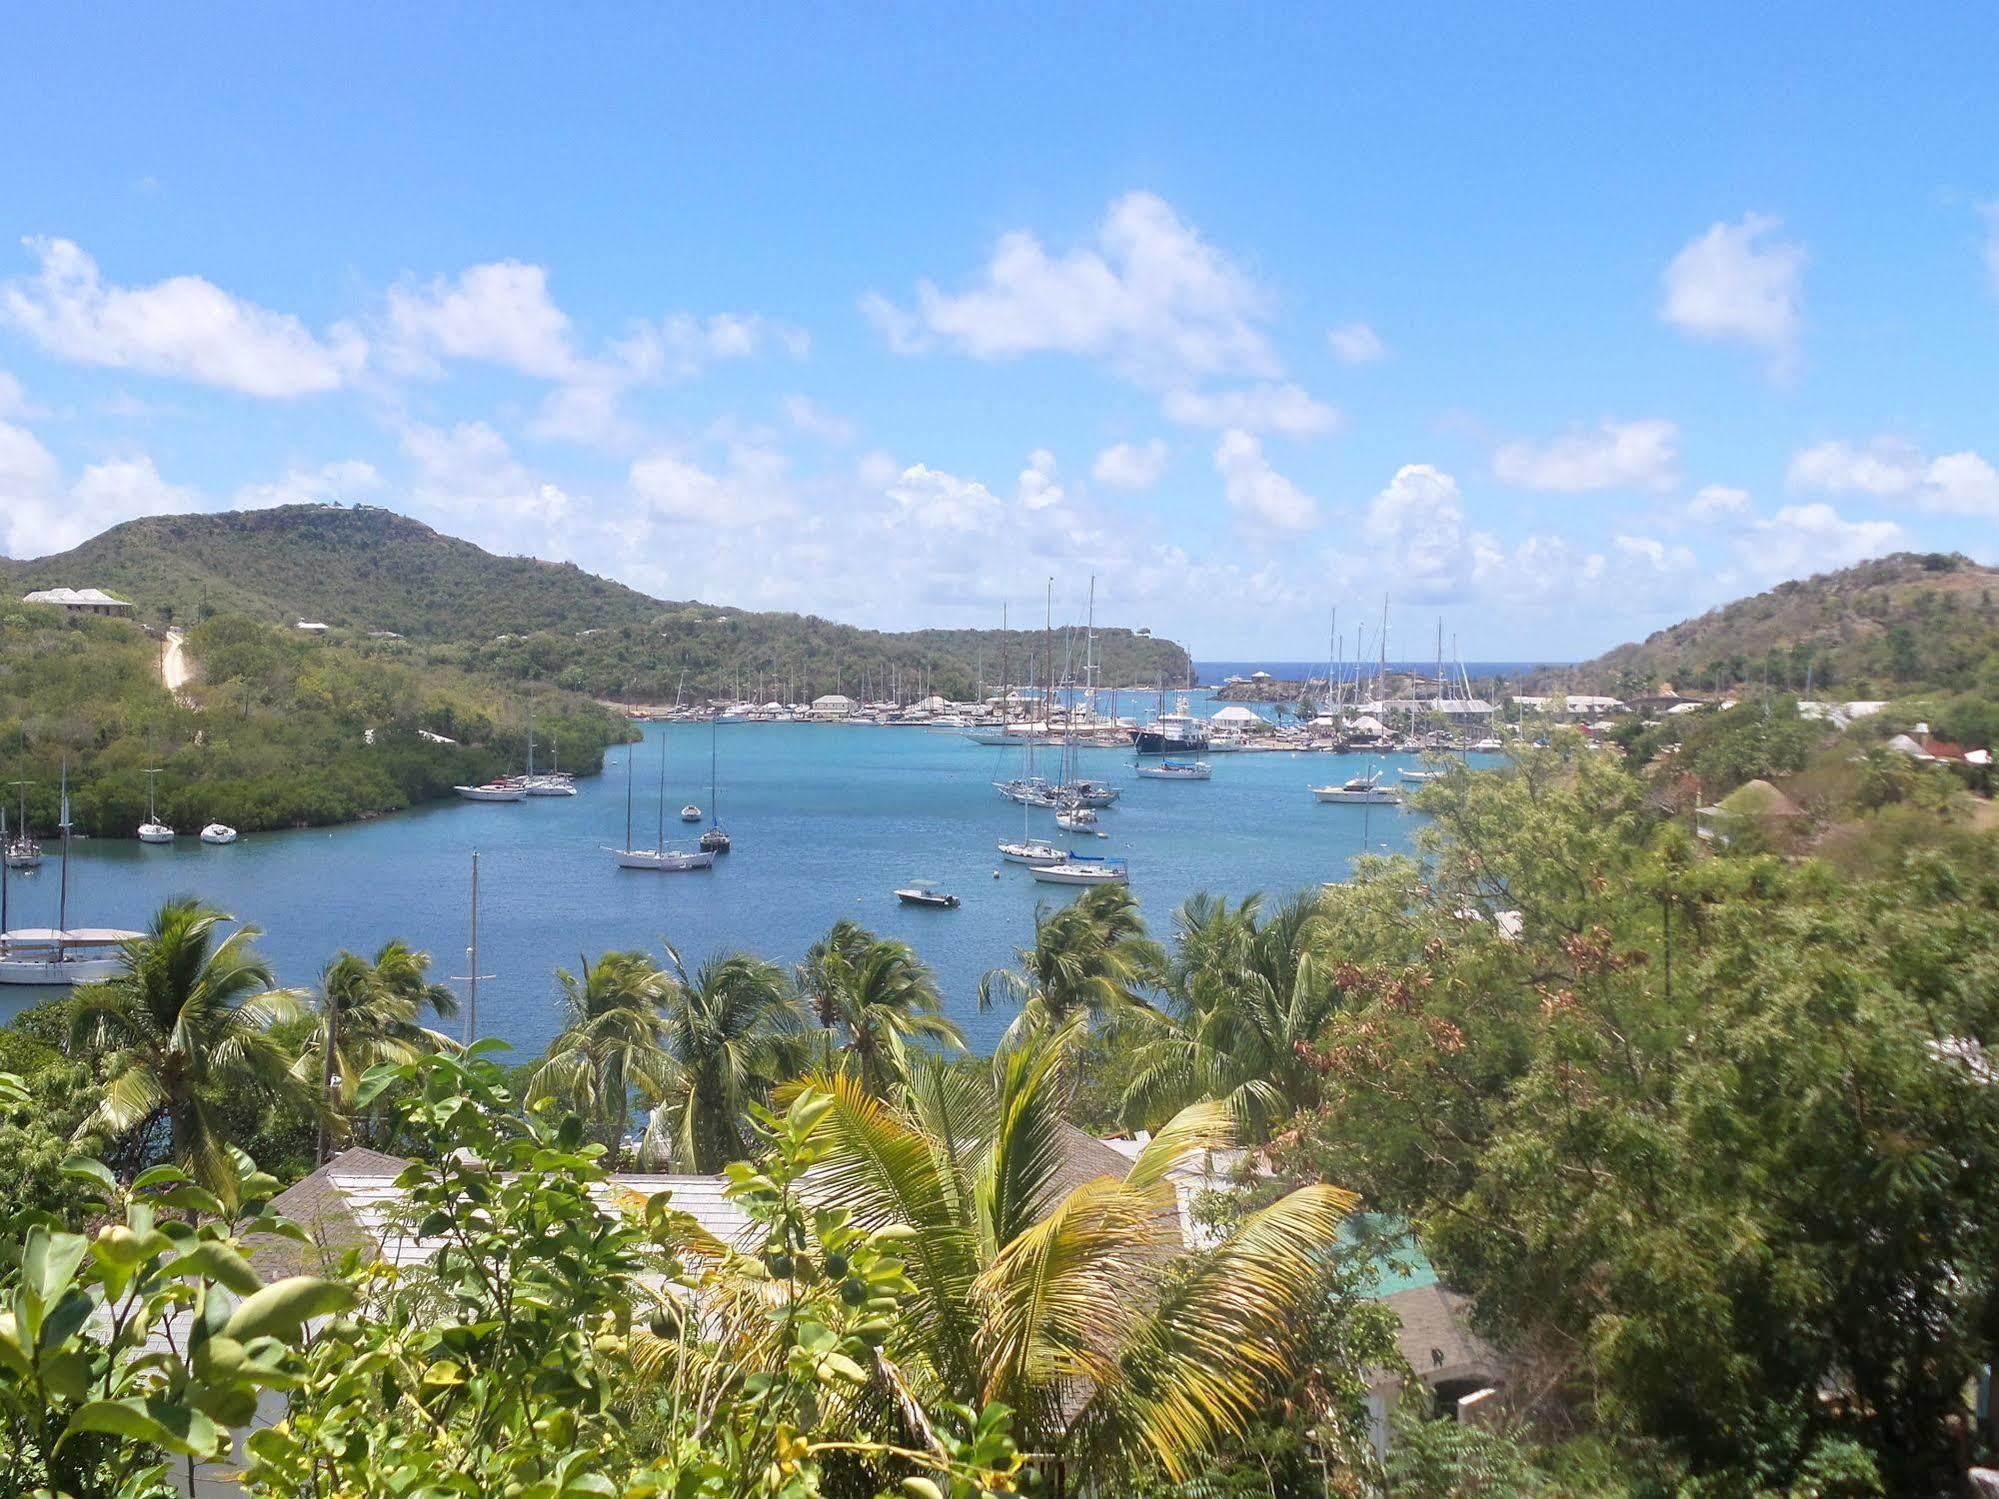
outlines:
[[[1761,686],[1839,698],[1965,692],[1999,668],[1999,570],[1897,552],[1777,584],[1583,662],[1575,688],[1631,696]]]

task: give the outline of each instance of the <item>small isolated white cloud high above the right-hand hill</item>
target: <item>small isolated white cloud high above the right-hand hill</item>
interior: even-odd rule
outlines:
[[[1779,226],[1769,214],[1711,224],[1665,268],[1659,316],[1693,338],[1755,344],[1781,364],[1797,338],[1807,256],[1775,238]]]

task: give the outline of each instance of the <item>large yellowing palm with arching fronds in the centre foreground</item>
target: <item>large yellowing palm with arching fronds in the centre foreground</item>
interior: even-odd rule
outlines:
[[[1231,1141],[1227,1107],[1185,1109],[1129,1171],[1073,1183],[1089,1141],[1063,1121],[1061,1073],[1083,1029],[1035,1031],[984,1075],[916,1057],[894,1099],[810,1079],[834,1099],[822,1201],[916,1229],[914,1341],[894,1353],[944,1397],[1009,1405],[1025,1447],[1085,1475],[1123,1453],[1183,1477],[1291,1371],[1293,1313],[1355,1199],[1303,1187],[1181,1257],[1169,1171]]]

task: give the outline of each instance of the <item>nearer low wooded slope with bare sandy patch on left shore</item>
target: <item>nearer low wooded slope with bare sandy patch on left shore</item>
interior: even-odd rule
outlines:
[[[132,837],[146,767],[162,769],[162,817],[182,833],[352,821],[520,769],[526,712],[492,682],[244,616],[198,624],[200,680],[160,686],[160,644],[128,620],[0,608],[0,781],[28,779],[28,819],[56,825],[70,775],[78,831]],[[548,692],[536,732],[562,763],[592,771],[626,726]],[[436,744],[422,732],[458,744]],[[10,815],[16,803],[8,793]]]

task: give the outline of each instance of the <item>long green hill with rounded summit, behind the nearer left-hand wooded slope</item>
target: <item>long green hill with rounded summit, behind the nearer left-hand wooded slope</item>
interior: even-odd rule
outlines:
[[[356,638],[394,632],[408,652],[448,666],[622,702],[750,692],[800,696],[926,684],[950,698],[980,680],[1023,680],[1039,632],[886,634],[798,614],[656,600],[566,562],[500,558],[422,522],[366,506],[280,506],[152,516],[34,562],[0,560],[0,584],[104,588],[148,622],[246,614],[318,620]],[[1055,654],[1063,660],[1057,640]],[[1077,648],[1079,654],[1079,648]],[[1099,630],[1103,684],[1185,682],[1185,650],[1129,630]]]

